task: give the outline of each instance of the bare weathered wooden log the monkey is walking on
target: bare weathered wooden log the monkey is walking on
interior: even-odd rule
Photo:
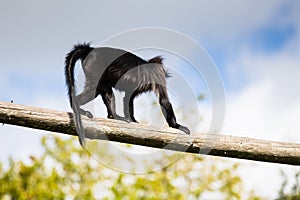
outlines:
[[[159,130],[136,123],[82,117],[89,139],[101,139],[195,154],[300,165],[300,144],[229,135],[185,135],[177,129]],[[0,122],[77,135],[72,113],[0,102]],[[1,134],[3,133],[1,131]]]

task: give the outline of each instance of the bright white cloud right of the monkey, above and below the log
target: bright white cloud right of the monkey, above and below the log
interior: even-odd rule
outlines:
[[[296,27],[298,32],[280,51],[267,54],[244,47],[227,63],[232,83],[244,79],[246,86],[228,94],[224,134],[300,143],[300,26]],[[242,163],[246,163],[240,170],[246,187],[270,199],[281,185],[279,169],[291,180],[297,170],[278,164]]]

